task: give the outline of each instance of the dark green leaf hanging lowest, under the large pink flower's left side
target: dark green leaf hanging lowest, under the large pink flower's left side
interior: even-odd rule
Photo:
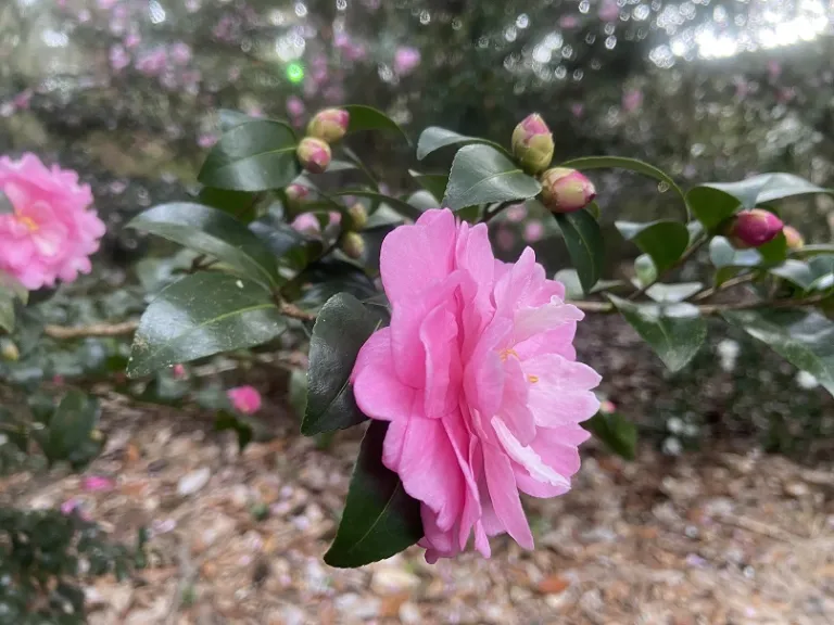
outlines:
[[[330,566],[364,566],[403,551],[424,536],[420,502],[382,464],[387,431],[388,423],[375,421],[362,441],[342,521],[325,553]]]

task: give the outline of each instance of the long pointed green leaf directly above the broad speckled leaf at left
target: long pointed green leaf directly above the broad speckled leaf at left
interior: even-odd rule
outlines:
[[[281,282],[269,250],[240,221],[217,208],[175,202],[139,214],[128,225],[214,256],[262,284]]]

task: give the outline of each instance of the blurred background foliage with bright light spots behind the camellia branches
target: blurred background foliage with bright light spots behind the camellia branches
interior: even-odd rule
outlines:
[[[824,0],[9,0],[0,7],[0,153],[29,150],[78,169],[109,225],[97,273],[62,289],[46,320],[121,320],[178,262],[137,265],[148,244],[121,226],[198,191],[218,109],[301,127],[323,106],[362,103],[413,139],[437,125],[505,144],[538,111],[557,161],[632,156],[683,186],[785,170],[831,187],[832,18]],[[349,143],[392,192],[415,188],[413,146],[377,133]],[[447,164],[440,153],[419,169]],[[630,174],[601,170],[594,181],[608,224],[673,205]],[[787,205],[785,220],[809,243],[829,242],[831,207],[824,196],[804,199]],[[528,242],[553,271],[565,262],[535,215],[504,220],[496,234],[505,254]],[[609,241],[617,273],[637,252],[612,230]],[[671,378],[631,337],[618,322],[592,320],[580,350],[623,413],[658,433],[668,452],[717,430],[759,436],[769,449],[829,452],[831,399],[762,347],[715,332],[698,361]],[[23,358],[0,374],[22,384],[118,371],[126,348],[111,339],[21,347]]]

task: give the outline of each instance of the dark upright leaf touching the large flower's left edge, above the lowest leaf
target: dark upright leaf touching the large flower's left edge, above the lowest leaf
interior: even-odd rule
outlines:
[[[343,430],[366,419],[356,406],[350,378],[359,348],[379,323],[377,315],[348,293],[333,295],[321,307],[309,340],[302,434]]]

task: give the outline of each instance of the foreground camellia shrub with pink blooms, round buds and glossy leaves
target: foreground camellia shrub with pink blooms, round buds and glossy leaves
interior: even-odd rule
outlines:
[[[595,394],[595,363],[577,360],[573,336],[585,315],[620,315],[672,371],[704,344],[707,318],[723,319],[834,393],[834,245],[806,245],[779,217],[780,201],[829,190],[797,176],[684,191],[634,160],[553,163],[552,133],[531,115],[509,146],[427,128],[417,161],[453,154],[451,167],[409,169],[414,190],[393,194],[345,144],[361,131],[409,143],[371,107],[321,111],[304,137],[281,120],[226,111],[220,120],[199,194],[128,225],[188,248],[192,262],[138,323],[112,333],[132,334],[126,373],[134,380],[178,377],[182,363],[262,348],[288,333],[308,336],[302,433],[369,421],[324,556],[332,566],[361,566],[415,544],[430,562],[467,549],[489,557],[500,534],[532,549],[520,494],[566,493],[592,434],[633,455],[633,426]],[[668,197],[664,219],[616,222],[642,253],[628,280],[603,273],[598,217],[616,207],[596,202],[592,179],[602,168],[654,178]],[[53,171],[66,189],[76,183]],[[8,200],[0,324],[14,340],[28,291],[88,270],[101,232],[79,212],[77,194],[59,205],[60,193],[52,201],[21,192],[14,179],[0,184]],[[551,216],[561,239],[554,244],[566,246],[571,268],[549,275],[531,248],[511,263],[496,259],[490,228],[508,215],[525,219],[520,204]],[[43,220],[49,215],[60,227]],[[711,270],[702,281],[674,280],[705,256]],[[260,408],[252,388],[228,397],[238,414]]]

